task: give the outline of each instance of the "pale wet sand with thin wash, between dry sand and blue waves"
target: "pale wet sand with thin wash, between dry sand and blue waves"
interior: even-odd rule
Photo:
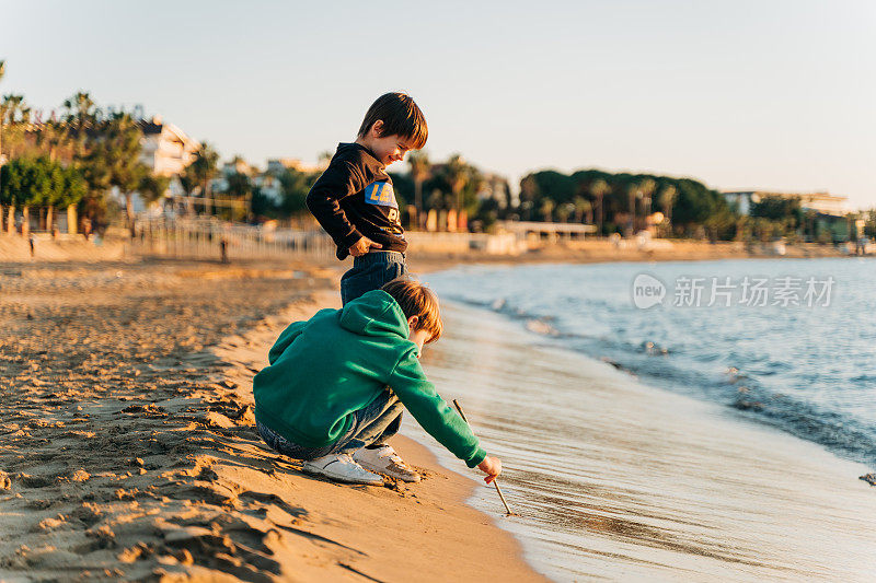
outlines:
[[[503,489],[522,516],[500,526],[548,576],[857,581],[876,568],[862,464],[540,345],[499,314],[474,331],[460,324],[482,310],[449,307],[457,334],[426,365],[505,456]],[[498,501],[481,492],[472,503]]]

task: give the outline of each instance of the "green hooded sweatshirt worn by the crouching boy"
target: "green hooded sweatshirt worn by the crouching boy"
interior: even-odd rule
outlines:
[[[287,440],[323,447],[389,385],[431,436],[474,467],[486,452],[423,372],[399,303],[370,291],[286,328],[253,380],[255,417]]]

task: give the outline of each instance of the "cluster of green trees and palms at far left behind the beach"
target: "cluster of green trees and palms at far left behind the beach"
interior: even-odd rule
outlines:
[[[0,80],[4,63],[0,61]],[[111,191],[125,199],[126,222],[132,224],[131,197],[154,200],[168,178],[153,176],[140,161],[142,131],[127,112],[103,112],[79,92],[66,100],[60,115],[37,119],[22,95],[0,98],[0,206],[7,229],[19,209],[27,223],[31,207],[43,209],[51,229],[55,209],[74,206],[90,230],[104,230],[112,219]]]

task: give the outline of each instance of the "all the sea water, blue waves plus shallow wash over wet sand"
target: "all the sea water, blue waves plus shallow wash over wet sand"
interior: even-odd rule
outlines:
[[[505,462],[521,516],[498,522],[555,580],[871,580],[874,267],[429,273],[446,337],[424,365]],[[489,489],[472,503],[504,514]]]

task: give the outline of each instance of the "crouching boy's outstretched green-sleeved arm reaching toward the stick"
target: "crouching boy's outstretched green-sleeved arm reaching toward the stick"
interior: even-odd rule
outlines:
[[[412,346],[392,371],[389,385],[414,419],[450,453],[475,467],[486,457],[468,423],[435,390],[417,360]]]

